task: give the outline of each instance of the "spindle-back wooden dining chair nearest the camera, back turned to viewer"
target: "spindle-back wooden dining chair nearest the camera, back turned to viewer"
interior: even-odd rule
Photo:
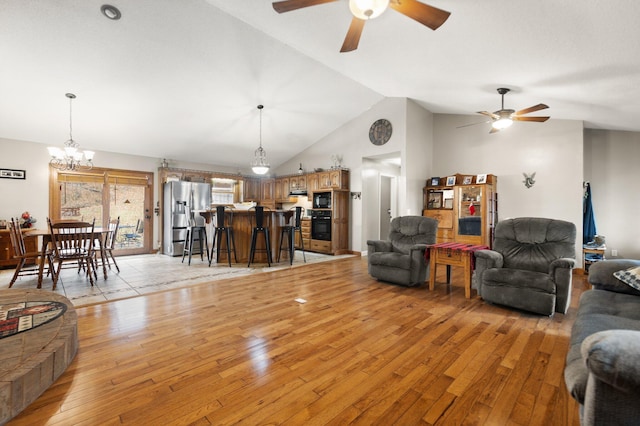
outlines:
[[[53,289],[55,290],[60,271],[63,263],[71,263],[77,265],[78,272],[86,269],[91,286],[93,286],[93,244],[94,244],[94,225],[92,222],[64,222],[49,224],[49,232],[51,233],[52,263],[53,271]],[[57,265],[57,266],[56,266]]]

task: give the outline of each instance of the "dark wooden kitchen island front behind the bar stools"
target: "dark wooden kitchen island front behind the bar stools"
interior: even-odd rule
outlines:
[[[253,230],[252,218],[255,212],[253,210],[231,210],[227,213],[227,223],[233,226],[233,234],[236,245],[236,256],[238,263],[247,263],[249,261],[249,250],[251,248],[251,232]],[[280,246],[280,230],[287,224],[293,212],[288,210],[266,210],[264,211],[266,225],[269,226],[269,240],[271,243],[271,257],[275,259],[278,256]],[[215,217],[215,211],[200,212],[205,218],[207,225],[211,225],[212,218]],[[233,221],[229,222],[233,216]],[[213,238],[213,227],[208,226],[207,234],[209,238]],[[264,239],[262,235],[258,235],[256,243],[256,253],[254,263],[267,263],[267,254],[264,251]],[[215,251],[214,251],[215,255]],[[283,254],[283,256],[285,256]],[[285,257],[286,258],[286,257]],[[233,253],[231,260],[235,261]],[[287,259],[288,260],[288,259]],[[215,259],[214,259],[215,262]],[[224,238],[220,247],[220,264],[228,262],[227,245]],[[228,264],[228,263],[227,263]],[[246,266],[246,265],[245,265]]]

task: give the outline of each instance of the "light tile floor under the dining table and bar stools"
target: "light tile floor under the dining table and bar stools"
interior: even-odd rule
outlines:
[[[352,255],[329,256],[319,253],[305,252],[307,263],[325,262]],[[293,266],[304,265],[301,253],[296,253]],[[217,265],[209,267],[206,260],[199,258],[191,260],[191,266],[182,263],[181,257],[170,257],[161,254],[122,256],[116,258],[120,273],[114,266],[108,270],[107,279],[104,278],[102,268],[98,271],[98,279],[91,287],[84,273],[78,274],[73,269],[63,269],[55,292],[65,296],[74,306],[91,305],[109,300],[126,299],[143,294],[187,287],[203,282],[239,277],[260,272],[289,268],[288,260],[267,267],[266,264],[254,264],[247,268],[245,263]],[[0,301],[2,290],[9,287],[13,276],[13,269],[0,270]],[[42,289],[51,290],[53,282],[45,277]],[[37,277],[19,277],[13,289],[36,288]]]

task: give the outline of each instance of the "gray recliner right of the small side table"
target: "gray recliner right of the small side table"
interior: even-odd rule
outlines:
[[[493,250],[478,250],[474,283],[485,301],[542,315],[566,313],[576,226],[522,217],[499,222]]]

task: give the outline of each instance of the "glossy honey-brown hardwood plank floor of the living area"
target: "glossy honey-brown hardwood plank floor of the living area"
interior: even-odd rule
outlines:
[[[584,277],[552,318],[438,278],[379,283],[350,258],[78,308],[76,359],[9,424],[578,425]]]

